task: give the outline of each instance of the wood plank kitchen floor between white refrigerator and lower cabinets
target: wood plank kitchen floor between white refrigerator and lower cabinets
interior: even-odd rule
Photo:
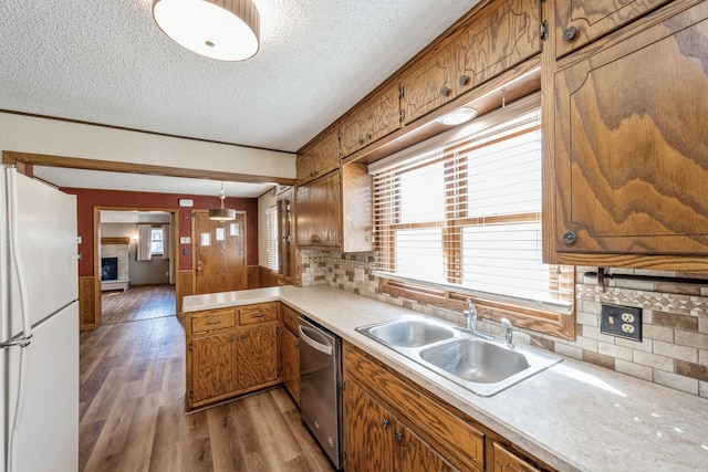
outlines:
[[[80,471],[332,471],[283,388],[185,416],[175,316],[81,333]]]

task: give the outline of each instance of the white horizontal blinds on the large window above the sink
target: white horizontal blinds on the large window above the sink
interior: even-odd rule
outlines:
[[[538,97],[369,166],[379,275],[558,313],[571,268],[541,262]]]

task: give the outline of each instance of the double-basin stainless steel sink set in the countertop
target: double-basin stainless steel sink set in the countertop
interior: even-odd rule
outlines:
[[[487,340],[421,315],[356,331],[481,397],[498,394],[562,360],[531,347],[506,345],[503,339]]]

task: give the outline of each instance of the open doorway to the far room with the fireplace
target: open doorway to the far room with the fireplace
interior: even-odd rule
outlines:
[[[175,316],[174,210],[94,209],[96,327]]]

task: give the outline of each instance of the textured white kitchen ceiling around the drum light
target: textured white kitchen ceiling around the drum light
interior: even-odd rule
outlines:
[[[479,0],[254,0],[261,48],[208,60],[152,0],[0,2],[0,109],[294,151]]]

